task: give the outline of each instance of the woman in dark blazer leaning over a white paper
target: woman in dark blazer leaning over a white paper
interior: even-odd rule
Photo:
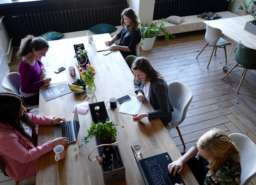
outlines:
[[[131,67],[134,74],[134,90],[140,101],[148,100],[155,111],[141,113],[133,117],[139,122],[144,117],[149,120],[160,118],[164,125],[172,120],[172,104],[169,99],[169,90],[163,76],[156,71],[145,57],[137,58]]]

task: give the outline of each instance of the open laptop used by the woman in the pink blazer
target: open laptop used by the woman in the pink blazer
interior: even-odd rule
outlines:
[[[74,119],[65,122],[65,124],[54,124],[53,125],[53,137],[67,137],[68,143],[76,141],[80,124],[78,119],[77,109],[75,110]]]

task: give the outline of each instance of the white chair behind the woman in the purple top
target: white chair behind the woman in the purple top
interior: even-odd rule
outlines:
[[[20,87],[20,74],[17,72],[11,72],[6,74],[2,80],[2,87],[9,92],[14,92],[19,94],[19,87]],[[26,103],[22,103],[22,105],[26,108],[26,111],[29,112],[32,108],[38,108],[39,105],[27,105]]]

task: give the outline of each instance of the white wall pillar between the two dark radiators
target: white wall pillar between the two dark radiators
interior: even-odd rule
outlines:
[[[155,0],[127,0],[127,6],[138,13],[143,24],[152,24]]]

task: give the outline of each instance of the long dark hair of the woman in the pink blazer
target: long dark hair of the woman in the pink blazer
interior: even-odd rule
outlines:
[[[22,96],[13,92],[0,92],[0,122],[18,130],[22,135],[27,137],[34,145],[32,137],[24,131],[22,122],[26,123],[32,130],[35,129],[35,123],[29,119],[27,112],[21,115]]]

